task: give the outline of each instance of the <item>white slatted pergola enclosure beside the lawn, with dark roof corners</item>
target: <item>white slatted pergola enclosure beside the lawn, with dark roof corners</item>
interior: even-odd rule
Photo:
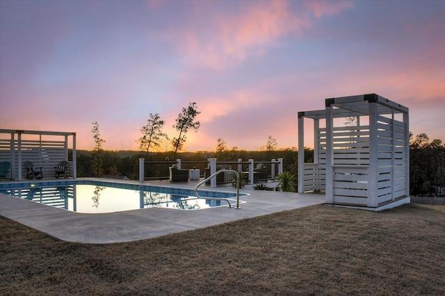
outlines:
[[[305,163],[305,118],[314,163]],[[380,211],[410,202],[408,108],[378,94],[325,99],[298,113],[298,192],[323,190],[326,204]]]

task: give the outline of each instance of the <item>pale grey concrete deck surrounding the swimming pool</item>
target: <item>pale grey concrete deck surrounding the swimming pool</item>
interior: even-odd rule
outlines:
[[[103,181],[103,179],[98,180]],[[138,183],[136,181],[116,182]],[[197,182],[170,183],[162,181],[145,182],[144,184],[195,188]],[[210,188],[202,186],[200,189],[235,191],[231,187]],[[60,240],[106,244],[156,238],[170,233],[200,229],[225,222],[268,215],[325,202],[325,195],[252,189],[241,189],[240,192],[249,194],[240,197],[240,200],[245,202],[240,204],[240,208],[222,206],[194,211],[144,208],[105,214],[74,213],[26,199],[0,194],[0,215]]]

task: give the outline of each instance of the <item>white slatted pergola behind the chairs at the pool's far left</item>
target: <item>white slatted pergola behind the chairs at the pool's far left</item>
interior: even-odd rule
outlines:
[[[44,177],[54,176],[54,167],[60,161],[68,161],[70,137],[72,163],[69,174],[76,178],[76,133],[0,129],[0,161],[11,163],[10,179],[21,180],[26,176],[26,161],[42,167]]]

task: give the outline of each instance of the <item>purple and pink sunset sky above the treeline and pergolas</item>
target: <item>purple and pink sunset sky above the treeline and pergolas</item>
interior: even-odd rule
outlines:
[[[445,1],[0,0],[0,129],[137,150],[150,113],[186,151],[298,147],[300,111],[376,93],[445,141]],[[306,143],[305,143],[306,145]],[[310,146],[310,143],[307,143]]]

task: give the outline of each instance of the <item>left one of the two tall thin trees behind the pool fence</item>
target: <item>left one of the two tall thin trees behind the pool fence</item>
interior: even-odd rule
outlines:
[[[161,138],[168,138],[167,134],[162,132],[165,122],[159,117],[159,113],[150,113],[147,125],[140,129],[143,134],[136,142],[139,143],[139,149],[145,151],[145,160],[147,160],[150,147],[158,147]]]

